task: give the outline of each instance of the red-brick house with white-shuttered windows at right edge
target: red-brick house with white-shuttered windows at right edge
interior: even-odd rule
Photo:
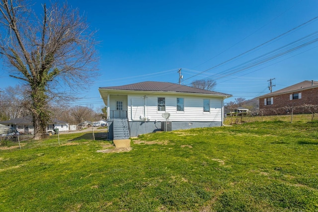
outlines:
[[[311,113],[305,105],[318,105],[318,81],[299,82],[256,99],[264,115]]]

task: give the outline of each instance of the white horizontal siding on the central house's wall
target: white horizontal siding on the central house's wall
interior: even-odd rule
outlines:
[[[158,111],[158,97],[165,98],[165,111]],[[177,98],[184,98],[184,111],[177,111]],[[203,99],[210,99],[210,112],[203,112]],[[186,95],[152,95],[145,99],[140,95],[128,96],[128,117],[130,121],[165,121],[162,113],[170,113],[169,121],[222,121],[223,98],[196,97]]]

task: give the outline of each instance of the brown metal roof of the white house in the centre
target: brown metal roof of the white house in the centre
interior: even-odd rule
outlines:
[[[203,90],[200,88],[190,87],[186,85],[179,85],[171,82],[157,82],[157,81],[145,81],[134,84],[100,87],[100,89],[113,89],[113,90],[140,90],[140,91],[172,91],[183,93],[205,93],[214,95],[232,96],[226,93],[220,93],[216,91]]]

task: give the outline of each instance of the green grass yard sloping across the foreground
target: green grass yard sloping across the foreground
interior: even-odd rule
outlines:
[[[253,122],[0,150],[0,211],[318,211],[318,122]]]

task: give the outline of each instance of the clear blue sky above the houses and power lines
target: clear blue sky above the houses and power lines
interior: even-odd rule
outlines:
[[[304,80],[318,81],[317,0],[68,2],[85,13],[101,41],[97,47],[101,76],[73,105],[102,106],[98,87],[178,83],[179,68],[184,85],[215,79],[216,91],[233,95],[226,102],[268,93],[271,78],[273,91]],[[306,46],[298,48],[302,45]],[[5,70],[0,81],[0,89],[18,83]]]

